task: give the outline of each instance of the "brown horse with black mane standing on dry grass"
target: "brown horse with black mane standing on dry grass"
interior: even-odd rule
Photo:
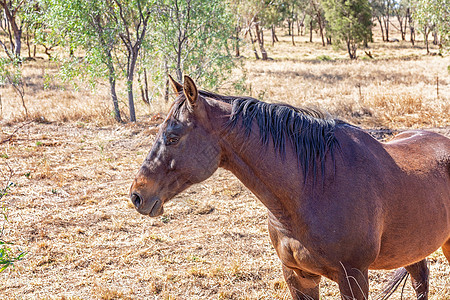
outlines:
[[[428,298],[425,258],[450,260],[450,139],[426,131],[380,143],[318,112],[198,91],[185,77],[131,186],[151,217],[218,167],[269,212],[269,234],[295,299],[325,276],[343,299],[368,299],[369,269],[411,275]]]

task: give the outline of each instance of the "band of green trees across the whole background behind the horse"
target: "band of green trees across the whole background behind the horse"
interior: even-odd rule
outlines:
[[[109,83],[114,117],[121,122],[116,82],[126,82],[130,121],[133,92],[150,103],[168,98],[167,74],[187,73],[203,87],[217,86],[231,72],[244,43],[267,60],[265,37],[276,43],[283,29],[314,32],[323,46],[345,47],[351,59],[368,47],[372,28],[383,41],[401,32],[412,45],[423,34],[443,52],[449,45],[449,0],[0,0],[0,76],[23,101],[21,66],[45,53],[63,79]],[[394,22],[395,21],[395,22]],[[264,34],[266,32],[266,34]],[[283,33],[284,34],[284,33]],[[370,53],[370,52],[369,52]]]

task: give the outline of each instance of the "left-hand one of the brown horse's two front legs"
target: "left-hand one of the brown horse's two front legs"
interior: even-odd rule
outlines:
[[[320,275],[283,265],[284,280],[294,300],[319,300]]]

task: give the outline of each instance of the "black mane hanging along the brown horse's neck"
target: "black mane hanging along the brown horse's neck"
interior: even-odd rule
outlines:
[[[327,118],[316,110],[265,103],[253,98],[235,98],[231,104],[233,108],[229,128],[240,124],[248,136],[255,120],[263,145],[268,145],[270,136],[275,150],[284,159],[286,143],[290,143],[297,154],[297,162],[303,169],[305,180],[310,168],[315,178],[319,163],[323,177],[326,154],[330,152],[334,160],[334,150],[339,147],[334,130],[343,121]]]

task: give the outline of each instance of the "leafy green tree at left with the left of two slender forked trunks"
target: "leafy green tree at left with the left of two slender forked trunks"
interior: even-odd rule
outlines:
[[[103,0],[41,0],[39,14],[35,17],[38,36],[45,41],[68,47],[71,55],[61,57],[63,79],[106,77],[114,106],[114,117],[122,121],[116,94],[119,31],[109,12],[109,1]],[[82,58],[73,56],[74,49],[82,49]],[[87,76],[86,76],[87,75]]]

